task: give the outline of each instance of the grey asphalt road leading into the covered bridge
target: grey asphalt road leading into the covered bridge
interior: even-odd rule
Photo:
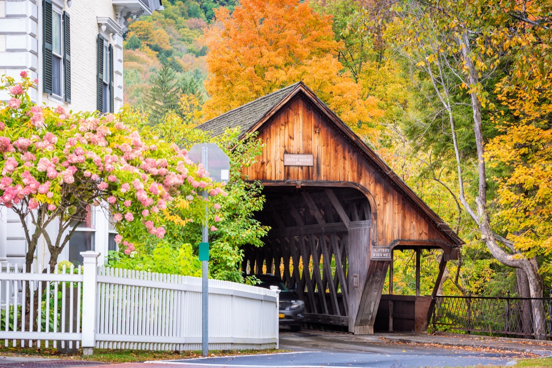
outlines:
[[[182,367],[463,367],[513,365],[519,353],[393,343],[378,335],[280,330],[280,349],[291,353],[172,361]]]

